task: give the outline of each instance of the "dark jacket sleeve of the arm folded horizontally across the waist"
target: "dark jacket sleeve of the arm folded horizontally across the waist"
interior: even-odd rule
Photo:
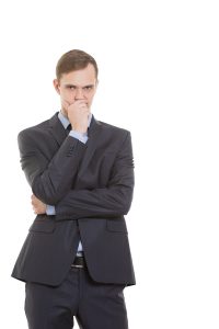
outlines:
[[[56,205],[56,220],[126,215],[131,205],[132,191],[134,159],[128,132],[114,161],[107,186],[69,191]]]

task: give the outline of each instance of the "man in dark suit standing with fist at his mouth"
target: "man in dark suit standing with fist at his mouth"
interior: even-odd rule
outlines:
[[[127,228],[134,189],[128,131],[96,121],[97,65],[61,56],[54,87],[61,110],[19,134],[37,215],[12,276],[26,282],[30,329],[127,329],[123,290],[135,284]]]

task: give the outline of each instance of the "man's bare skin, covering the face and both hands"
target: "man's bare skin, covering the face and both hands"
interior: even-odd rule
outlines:
[[[89,64],[84,69],[64,73],[54,80],[54,87],[60,95],[61,112],[71,126],[79,133],[88,129],[89,114],[97,88],[94,67]],[[46,205],[34,194],[31,196],[34,214],[45,214]]]

